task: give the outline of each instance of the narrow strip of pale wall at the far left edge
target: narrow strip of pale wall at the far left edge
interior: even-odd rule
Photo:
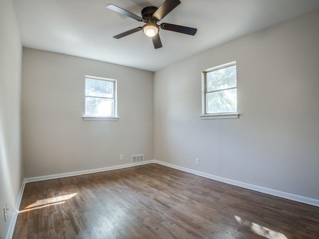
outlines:
[[[0,1],[0,239],[5,238],[23,180],[20,142],[22,46],[11,0]],[[9,217],[4,222],[3,207]]]

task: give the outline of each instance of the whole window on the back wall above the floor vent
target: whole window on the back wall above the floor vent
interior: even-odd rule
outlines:
[[[85,76],[85,117],[117,118],[116,80]]]

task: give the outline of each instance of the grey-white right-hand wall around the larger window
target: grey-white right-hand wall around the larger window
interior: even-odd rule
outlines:
[[[311,12],[156,72],[155,159],[319,199],[318,26]],[[240,118],[199,119],[201,71],[232,61]]]

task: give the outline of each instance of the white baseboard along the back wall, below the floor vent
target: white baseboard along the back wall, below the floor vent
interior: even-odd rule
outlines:
[[[78,175],[89,174],[89,173],[99,173],[99,172],[110,171],[110,170],[121,169],[121,168],[130,168],[130,167],[135,167],[135,166],[149,164],[149,163],[154,163],[154,160],[148,160],[148,161],[138,162],[138,163],[128,163],[128,164],[110,166],[105,168],[95,168],[95,169],[76,171],[76,172],[70,172],[70,173],[59,173],[59,174],[52,174],[47,176],[31,177],[31,178],[25,178],[24,181],[25,183],[30,183],[30,182],[49,180],[49,179],[72,177],[72,176],[78,176]]]

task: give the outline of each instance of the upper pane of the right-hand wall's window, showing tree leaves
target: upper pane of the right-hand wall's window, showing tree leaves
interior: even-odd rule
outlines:
[[[236,65],[206,73],[206,91],[236,87]]]

